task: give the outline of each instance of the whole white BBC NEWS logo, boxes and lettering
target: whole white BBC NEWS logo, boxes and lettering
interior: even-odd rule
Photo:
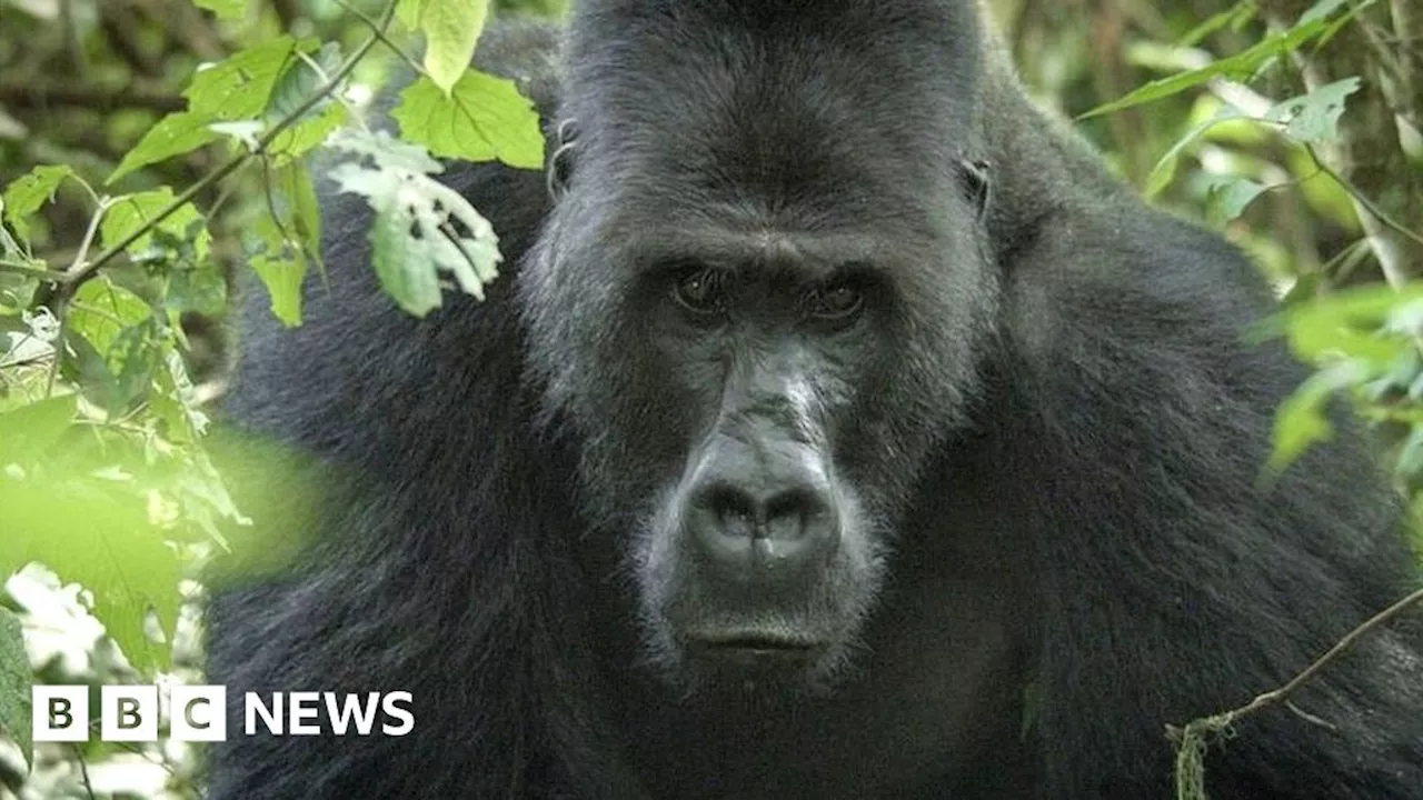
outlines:
[[[168,736],[178,742],[226,742],[226,686],[169,686]],[[87,742],[88,686],[34,686],[34,740]],[[406,736],[416,727],[410,692],[273,692],[242,696],[242,735]],[[101,686],[100,739],[158,740],[158,686]],[[377,725],[379,723],[379,725]]]

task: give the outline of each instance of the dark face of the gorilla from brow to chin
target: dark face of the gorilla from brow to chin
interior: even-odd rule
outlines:
[[[579,438],[592,547],[619,547],[683,688],[841,673],[976,390],[996,282],[972,205],[575,191],[555,212],[522,278],[532,360]]]

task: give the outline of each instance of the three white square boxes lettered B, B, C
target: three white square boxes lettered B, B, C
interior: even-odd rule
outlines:
[[[223,686],[168,688],[168,736],[179,742],[222,742],[228,730],[228,690]],[[88,686],[34,686],[36,742],[88,742]],[[158,686],[101,686],[100,739],[157,742],[161,706]]]

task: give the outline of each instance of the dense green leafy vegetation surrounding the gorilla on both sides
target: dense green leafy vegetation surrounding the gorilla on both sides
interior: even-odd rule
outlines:
[[[498,232],[435,158],[542,167],[529,104],[465,65],[490,17],[562,4],[0,0],[0,796],[199,793],[186,746],[33,746],[28,685],[201,679],[192,578],[276,544],[242,537],[213,467],[232,446],[208,413],[240,346],[232,295],[253,285],[300,325],[297,288],[322,270],[319,151],[377,214],[393,303],[420,316],[480,295]],[[1321,409],[1346,396],[1417,505],[1423,9],[995,7],[1044,104],[1278,288],[1259,336],[1318,370],[1279,410],[1261,480],[1328,437]],[[420,77],[393,138],[361,120],[401,63]]]

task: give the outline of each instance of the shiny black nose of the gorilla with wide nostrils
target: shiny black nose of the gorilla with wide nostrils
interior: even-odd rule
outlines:
[[[686,522],[706,565],[744,579],[803,577],[840,545],[824,458],[794,441],[720,438],[690,487]]]

